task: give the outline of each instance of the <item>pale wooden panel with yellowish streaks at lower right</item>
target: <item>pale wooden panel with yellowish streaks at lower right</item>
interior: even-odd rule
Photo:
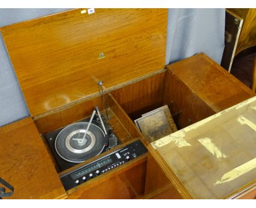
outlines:
[[[185,198],[229,198],[256,186],[256,96],[151,143]]]

